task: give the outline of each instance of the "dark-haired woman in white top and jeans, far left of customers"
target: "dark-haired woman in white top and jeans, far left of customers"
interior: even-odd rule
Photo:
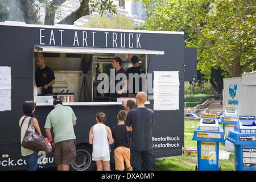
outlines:
[[[26,130],[36,130],[40,135],[42,135],[38,120],[35,118],[35,115],[33,114],[35,111],[36,104],[34,101],[25,101],[23,104],[23,117],[19,120],[19,126],[21,129],[20,132],[20,143],[22,143],[24,135],[26,133]],[[30,118],[33,117],[33,128],[28,126],[28,123],[30,122]],[[21,153],[22,156],[24,156],[24,159],[27,163],[27,170],[28,171],[35,171],[36,167],[38,166],[38,152],[29,150],[27,148],[21,147]]]

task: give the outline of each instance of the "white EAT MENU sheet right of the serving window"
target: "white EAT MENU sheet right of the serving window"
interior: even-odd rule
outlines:
[[[179,71],[154,72],[154,110],[179,110]]]

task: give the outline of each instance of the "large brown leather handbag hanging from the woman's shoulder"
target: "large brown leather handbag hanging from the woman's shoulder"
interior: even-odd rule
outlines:
[[[22,121],[22,124],[24,122],[24,119]],[[20,128],[22,127],[22,124]],[[35,133],[33,130],[28,131],[28,127],[30,125],[33,129],[33,117],[31,117],[30,122],[28,122],[27,130],[22,140],[22,147],[30,149],[35,152],[43,151],[44,148],[46,148],[46,142],[44,140],[44,137]]]

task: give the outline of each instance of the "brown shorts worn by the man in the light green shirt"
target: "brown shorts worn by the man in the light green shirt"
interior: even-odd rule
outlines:
[[[76,161],[76,140],[55,143],[56,164],[72,164]]]

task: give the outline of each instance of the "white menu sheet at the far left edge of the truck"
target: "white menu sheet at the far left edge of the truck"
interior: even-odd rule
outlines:
[[[11,110],[11,67],[0,67],[0,111]]]

